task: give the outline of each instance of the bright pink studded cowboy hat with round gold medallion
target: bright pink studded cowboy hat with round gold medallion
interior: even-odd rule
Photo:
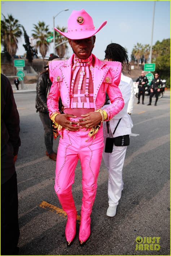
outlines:
[[[92,17],[84,9],[79,11],[73,10],[68,18],[67,33],[61,32],[56,27],[54,27],[54,30],[69,39],[84,39],[95,35],[106,23],[107,21],[104,21],[98,29],[95,29]]]

